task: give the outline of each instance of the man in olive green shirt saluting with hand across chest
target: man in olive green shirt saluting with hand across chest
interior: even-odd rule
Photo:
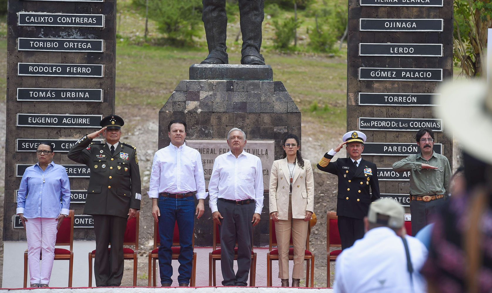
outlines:
[[[429,224],[431,215],[444,204],[450,193],[451,168],[448,158],[436,153],[434,132],[423,128],[415,135],[421,152],[410,155],[393,164],[393,170],[410,170],[410,213],[412,235]]]

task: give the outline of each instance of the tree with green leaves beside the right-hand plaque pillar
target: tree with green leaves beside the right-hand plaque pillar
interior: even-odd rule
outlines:
[[[466,76],[484,73],[487,29],[492,26],[491,0],[454,0],[453,59]]]

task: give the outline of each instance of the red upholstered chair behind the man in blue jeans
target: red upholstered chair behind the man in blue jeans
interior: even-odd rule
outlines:
[[[191,245],[193,245],[194,248],[195,247],[194,237],[191,240],[191,243],[192,243]],[[154,280],[153,286],[155,287],[155,280],[156,280],[155,262],[156,260],[159,259],[159,255],[158,255],[159,246],[160,246],[159,224],[154,222],[154,248],[152,249],[151,252],[149,252],[149,287],[151,287],[151,276],[152,279]],[[181,247],[180,247],[180,231],[178,230],[177,222],[174,224],[173,246],[171,247],[171,250],[173,252],[172,259],[178,260],[178,257],[180,256]],[[196,280],[196,252],[193,252],[193,266],[191,267],[191,277],[189,279],[190,287],[195,287],[195,280]]]

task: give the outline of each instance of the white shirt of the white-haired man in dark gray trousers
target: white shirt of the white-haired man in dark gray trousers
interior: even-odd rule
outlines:
[[[231,151],[215,158],[209,182],[209,205],[217,211],[217,199],[255,200],[255,213],[263,209],[263,170],[255,155],[243,150],[236,158]]]

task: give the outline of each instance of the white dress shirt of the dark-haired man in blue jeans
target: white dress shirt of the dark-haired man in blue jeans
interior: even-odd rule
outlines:
[[[196,191],[197,199],[206,199],[205,177],[200,153],[186,144],[169,144],[155,152],[147,194],[158,198],[159,193]]]

